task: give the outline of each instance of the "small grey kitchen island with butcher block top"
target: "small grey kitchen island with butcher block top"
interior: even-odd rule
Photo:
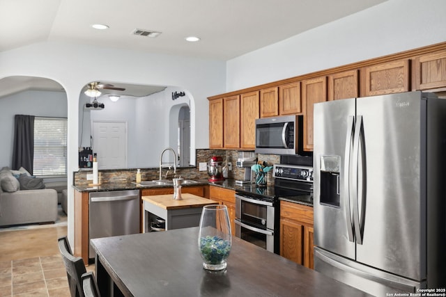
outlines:
[[[144,204],[144,233],[160,231],[155,225],[158,218],[165,220],[164,230],[197,227],[200,224],[203,207],[218,204],[190,193],[181,195],[183,200],[174,200],[174,195],[147,195],[142,196]]]

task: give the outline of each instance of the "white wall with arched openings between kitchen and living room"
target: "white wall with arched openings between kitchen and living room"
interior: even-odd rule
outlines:
[[[94,63],[92,63],[92,61]],[[15,75],[53,79],[68,100],[68,180],[77,170],[79,95],[90,81],[178,86],[193,94],[200,117],[192,131],[197,148],[208,147],[207,97],[224,93],[225,63],[63,42],[40,42],[0,53],[0,79]],[[68,237],[74,240],[73,193],[68,191]]]

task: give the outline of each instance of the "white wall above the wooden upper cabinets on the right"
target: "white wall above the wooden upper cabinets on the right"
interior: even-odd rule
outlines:
[[[445,11],[445,0],[386,1],[233,58],[226,91],[444,42]]]

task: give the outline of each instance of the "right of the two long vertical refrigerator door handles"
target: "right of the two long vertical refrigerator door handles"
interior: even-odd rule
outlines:
[[[364,235],[364,226],[360,223],[360,211],[359,211],[359,198],[358,198],[358,184],[360,184],[361,188],[361,206],[362,206],[362,218],[364,218],[364,186],[362,182],[364,181],[365,177],[365,163],[364,163],[364,123],[362,121],[362,115],[358,115],[356,118],[356,125],[355,125],[355,136],[353,138],[353,164],[355,166],[353,170],[353,223],[355,225],[355,236],[356,236],[356,242],[358,244],[362,244],[362,238]],[[362,153],[362,166],[359,166],[359,154],[360,149]],[[359,179],[358,176],[358,170],[362,169],[362,174],[360,176],[361,179]]]

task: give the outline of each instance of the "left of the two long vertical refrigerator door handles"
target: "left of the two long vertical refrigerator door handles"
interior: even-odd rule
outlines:
[[[347,135],[346,135],[346,151],[344,153],[344,193],[346,193],[346,207],[344,207],[346,211],[346,225],[347,225],[347,233],[348,233],[348,241],[354,242],[355,238],[353,237],[353,222],[351,219],[351,195],[350,195],[350,186],[351,186],[351,176],[350,176],[350,154],[351,154],[351,145],[353,141],[353,129],[354,129],[354,121],[355,117],[353,115],[349,116],[347,119]]]

